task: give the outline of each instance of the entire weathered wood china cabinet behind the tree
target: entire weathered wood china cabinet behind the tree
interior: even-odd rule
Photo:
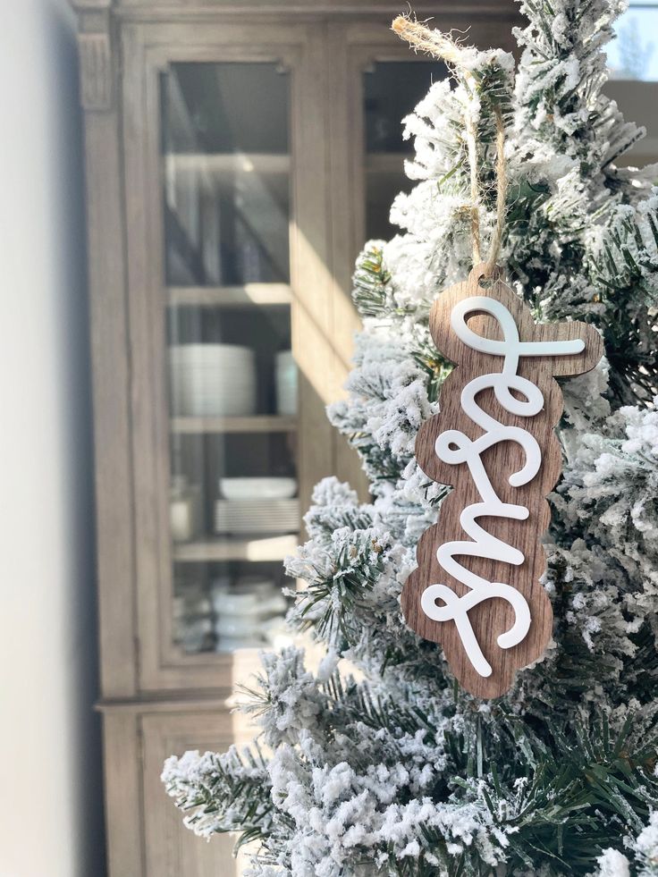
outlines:
[[[167,755],[249,738],[232,690],[286,641],[312,486],[360,483],[325,417],[353,259],[394,233],[401,117],[441,64],[391,4],[73,0],[85,112],[111,877],[238,873],[182,828]],[[513,4],[418,7],[509,47]]]

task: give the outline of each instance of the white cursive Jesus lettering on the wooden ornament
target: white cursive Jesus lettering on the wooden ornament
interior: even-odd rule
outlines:
[[[502,329],[503,341],[483,338],[468,328],[466,317],[474,312],[484,312],[495,317]],[[519,645],[530,628],[530,609],[526,598],[514,587],[503,582],[490,582],[464,567],[456,556],[491,558],[503,563],[519,565],[525,555],[517,548],[487,533],[477,523],[478,518],[509,518],[526,520],[529,511],[525,505],[501,502],[493,489],[482,462],[482,454],[500,442],[514,442],[524,453],[525,463],[519,471],[510,475],[510,485],[527,485],[542,465],[542,451],[534,435],[519,426],[503,426],[488,415],[476,401],[479,392],[491,388],[502,408],[519,417],[535,417],[544,408],[544,394],[536,384],[518,374],[521,357],[574,356],[585,350],[585,342],[572,341],[521,342],[514,317],[501,301],[484,296],[464,299],[452,308],[451,328],[461,342],[472,350],[503,357],[501,372],[478,375],[469,381],[461,392],[461,408],[464,413],[485,430],[485,434],[472,442],[468,435],[457,429],[447,429],[434,443],[436,455],[444,463],[466,463],[482,502],[474,502],[461,512],[460,524],[470,537],[470,542],[446,542],[436,552],[441,567],[453,578],[470,589],[460,597],[446,585],[430,585],[423,592],[421,606],[428,618],[434,621],[453,620],[460,632],[461,642],[480,676],[491,676],[491,664],[486,660],[477,643],[468,612],[485,600],[500,597],[510,603],[514,610],[514,623],[498,637],[498,645],[509,649]],[[524,396],[519,400],[512,395],[516,391]],[[436,600],[443,601],[438,606]]]

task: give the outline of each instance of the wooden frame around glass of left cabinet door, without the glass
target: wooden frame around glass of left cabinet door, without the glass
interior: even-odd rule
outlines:
[[[331,382],[332,287],[327,271],[324,41],[308,24],[278,21],[254,43],[237,23],[126,23],[122,29],[123,150],[131,351],[135,581],[141,691],[217,688],[236,679],[231,654],[183,656],[172,637],[169,422],[165,380],[165,274],[159,79],[175,62],[274,62],[291,72],[291,333],[300,369],[302,506],[333,471],[325,417]]]

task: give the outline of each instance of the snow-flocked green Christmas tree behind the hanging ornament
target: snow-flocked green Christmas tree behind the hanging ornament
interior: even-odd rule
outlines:
[[[658,168],[616,165],[643,133],[602,93],[621,0],[521,7],[516,69],[500,51],[452,49],[452,87],[436,82],[404,121],[416,185],[392,207],[401,232],[359,257],[364,331],[330,417],[373,502],[326,479],[288,561],[308,585],[291,624],[325,660],[313,674],[298,650],[267,654],[251,697],[261,746],[165,765],[191,829],[257,842],[254,877],[658,874]],[[444,46],[434,37],[435,54]],[[492,234],[496,118],[499,264],[537,321],[595,325],[606,358],[562,384],[563,476],[544,536],[553,641],[508,695],[480,701],[406,627],[400,595],[446,494],[413,457],[451,368],[428,312],[468,276],[474,207],[483,248]],[[343,659],[359,681],[339,675]]]

